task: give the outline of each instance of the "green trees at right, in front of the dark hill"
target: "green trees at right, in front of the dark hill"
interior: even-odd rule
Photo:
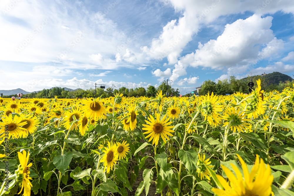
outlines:
[[[265,92],[269,91],[283,91],[286,87],[293,88],[293,81],[280,82],[279,84],[273,84],[268,79],[262,76],[252,76],[252,82],[256,86],[256,81],[260,79],[261,90]],[[248,83],[251,81],[251,76],[241,80],[236,79],[235,76],[230,76],[229,79],[219,80],[217,83],[211,80],[206,80],[201,85],[199,95],[206,95],[208,92],[216,95],[233,94],[235,92],[249,93]]]

